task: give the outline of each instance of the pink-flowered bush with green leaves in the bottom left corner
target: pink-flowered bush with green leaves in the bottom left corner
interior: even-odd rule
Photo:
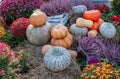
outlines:
[[[15,79],[16,69],[21,66],[23,54],[15,53],[5,43],[0,43],[0,79]]]

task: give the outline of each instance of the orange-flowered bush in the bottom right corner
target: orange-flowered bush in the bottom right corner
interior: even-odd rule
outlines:
[[[114,67],[106,63],[87,65],[80,79],[119,79],[120,73]]]

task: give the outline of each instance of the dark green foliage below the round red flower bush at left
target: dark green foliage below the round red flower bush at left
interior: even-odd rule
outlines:
[[[17,37],[14,36],[10,30],[6,30],[6,35],[0,38],[0,42],[5,42],[6,44],[10,45],[11,47],[15,47],[18,45],[26,44],[25,37]]]

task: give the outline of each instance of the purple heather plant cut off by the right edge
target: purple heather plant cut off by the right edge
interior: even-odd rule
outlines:
[[[120,44],[113,41],[105,42],[107,51],[104,55],[105,59],[114,66],[120,66]]]

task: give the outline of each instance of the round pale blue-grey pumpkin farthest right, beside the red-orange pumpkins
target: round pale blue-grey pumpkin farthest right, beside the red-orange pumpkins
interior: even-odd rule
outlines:
[[[102,23],[99,30],[102,36],[106,38],[113,38],[116,35],[115,26],[109,22]]]

